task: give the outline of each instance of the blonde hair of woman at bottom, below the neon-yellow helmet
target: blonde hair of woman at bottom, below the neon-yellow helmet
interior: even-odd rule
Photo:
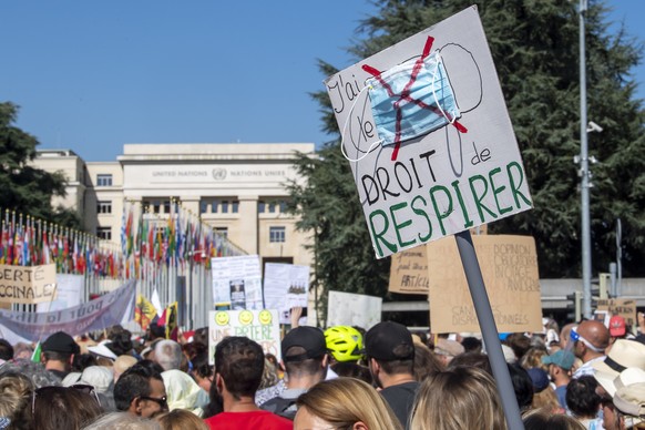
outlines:
[[[319,382],[301,395],[294,430],[401,430],[383,398],[369,383],[355,378]]]

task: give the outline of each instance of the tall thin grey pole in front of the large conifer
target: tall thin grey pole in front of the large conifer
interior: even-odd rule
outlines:
[[[587,146],[587,119],[586,119],[586,58],[584,20],[587,10],[587,0],[580,0],[580,173],[582,177],[582,314],[591,318],[591,219],[590,219],[590,171]]]

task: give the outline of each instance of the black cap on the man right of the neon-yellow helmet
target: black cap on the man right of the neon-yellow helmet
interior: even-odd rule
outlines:
[[[383,361],[414,358],[412,335],[402,324],[379,322],[365,335],[365,352],[369,358]]]

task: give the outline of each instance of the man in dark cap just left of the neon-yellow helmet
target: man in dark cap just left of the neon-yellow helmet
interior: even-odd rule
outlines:
[[[296,400],[325,379],[329,356],[322,331],[315,327],[296,327],[281,341],[280,367],[286,372],[286,390],[260,405],[260,409],[294,419]]]

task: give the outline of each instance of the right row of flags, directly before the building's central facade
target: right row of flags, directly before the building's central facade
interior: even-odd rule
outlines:
[[[126,278],[140,278],[145,264],[155,267],[180,267],[187,263],[204,264],[211,268],[211,258],[245,255],[226,237],[185,211],[178,201],[171,201],[170,214],[144,213],[139,202],[123,211],[121,249]],[[135,215],[137,213],[137,215]]]

